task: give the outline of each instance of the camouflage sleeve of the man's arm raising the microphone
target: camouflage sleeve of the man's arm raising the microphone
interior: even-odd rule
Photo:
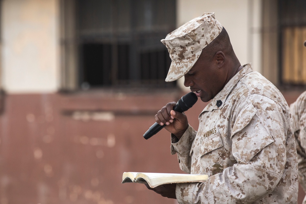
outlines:
[[[191,157],[189,156],[192,142],[196,136],[196,131],[188,125],[186,132],[179,141],[174,135],[171,135],[171,154],[177,153],[180,169],[186,173],[191,171]]]

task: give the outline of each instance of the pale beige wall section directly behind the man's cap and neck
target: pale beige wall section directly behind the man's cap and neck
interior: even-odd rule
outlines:
[[[215,12],[226,28],[240,63],[252,62],[254,70],[262,72],[261,0],[178,0],[177,27],[205,12]]]

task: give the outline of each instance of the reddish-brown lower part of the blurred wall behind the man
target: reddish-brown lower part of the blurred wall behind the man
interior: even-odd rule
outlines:
[[[301,91],[284,91],[288,103]],[[5,95],[0,115],[0,203],[176,203],[124,171],[180,173],[162,130],[145,140],[155,113],[184,93],[89,91]],[[186,114],[198,127],[200,100]],[[302,196],[302,195],[301,195]]]

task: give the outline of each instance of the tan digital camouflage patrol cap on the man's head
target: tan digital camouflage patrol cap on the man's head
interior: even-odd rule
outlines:
[[[175,81],[184,76],[196,63],[202,49],[220,34],[222,28],[215,19],[215,13],[204,13],[162,39],[172,61],[166,81]]]

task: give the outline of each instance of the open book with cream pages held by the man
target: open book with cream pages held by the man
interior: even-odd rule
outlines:
[[[208,175],[206,174],[124,172],[122,184],[134,182],[149,184],[151,188],[154,188],[162,184],[204,182],[207,179]]]

